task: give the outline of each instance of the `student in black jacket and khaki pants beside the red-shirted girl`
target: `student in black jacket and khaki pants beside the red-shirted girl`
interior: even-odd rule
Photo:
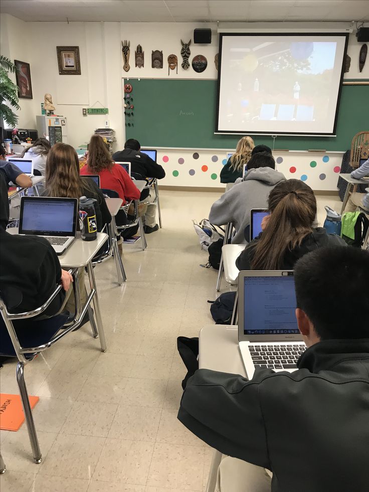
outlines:
[[[140,152],[141,145],[138,140],[129,138],[124,144],[124,150],[113,153],[113,159],[116,162],[130,162],[131,175],[135,179],[145,180],[146,178],[156,178],[161,180],[165,178],[165,171],[154,160],[144,152]],[[141,193],[141,201],[153,201],[155,199],[154,190],[143,190]],[[159,229],[156,224],[156,207],[154,204],[147,205],[145,212],[145,227],[146,234],[155,232]]]

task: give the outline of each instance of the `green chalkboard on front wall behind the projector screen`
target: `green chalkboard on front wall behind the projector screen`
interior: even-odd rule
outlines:
[[[133,90],[133,116],[126,115],[126,138],[146,147],[235,148],[241,135],[214,134],[217,81],[183,79],[129,79]],[[275,148],[290,150],[347,150],[355,133],[367,130],[364,101],[369,85],[343,85],[336,137],[278,136]],[[128,123],[133,126],[128,126]],[[256,143],[270,147],[269,135],[256,135]]]

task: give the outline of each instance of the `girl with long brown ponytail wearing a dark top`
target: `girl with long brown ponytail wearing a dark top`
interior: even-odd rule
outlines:
[[[346,246],[323,227],[314,228],[316,199],[300,180],[278,183],[269,194],[263,232],[251,241],[236,260],[239,270],[293,270],[309,251],[326,246]]]

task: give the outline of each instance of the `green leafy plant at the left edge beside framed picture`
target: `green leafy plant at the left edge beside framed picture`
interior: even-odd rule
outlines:
[[[0,55],[0,119],[3,118],[12,128],[18,123],[18,116],[12,111],[12,107],[21,109],[21,106],[18,104],[18,86],[9,78],[8,73],[16,73],[17,70],[9,58]]]

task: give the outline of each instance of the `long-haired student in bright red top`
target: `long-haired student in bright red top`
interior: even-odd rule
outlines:
[[[140,192],[134,185],[128,173],[119,164],[116,164],[100,135],[92,135],[88,145],[87,163],[80,171],[81,176],[99,175],[100,187],[105,190],[113,190],[123,200],[123,205],[129,200],[138,200]],[[128,216],[129,219],[129,216]],[[123,210],[119,211],[115,220],[118,226],[126,225],[129,220]],[[134,236],[138,225],[125,229],[121,236],[128,238]]]

